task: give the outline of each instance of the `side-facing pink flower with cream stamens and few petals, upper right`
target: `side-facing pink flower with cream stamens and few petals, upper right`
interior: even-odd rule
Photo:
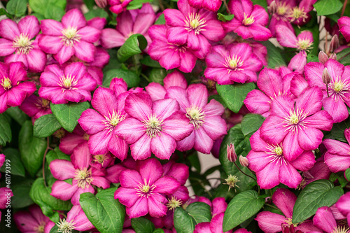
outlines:
[[[294,30],[284,25],[276,26],[276,38],[283,47],[297,48],[297,50],[308,50],[314,42],[311,31],[302,31],[295,36]]]

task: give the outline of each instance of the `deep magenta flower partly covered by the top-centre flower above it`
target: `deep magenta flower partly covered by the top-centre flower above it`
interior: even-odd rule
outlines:
[[[188,45],[169,43],[167,40],[167,27],[165,25],[153,25],[148,30],[152,43],[148,48],[148,54],[158,61],[165,69],[179,69],[190,73],[197,62],[195,52]]]

